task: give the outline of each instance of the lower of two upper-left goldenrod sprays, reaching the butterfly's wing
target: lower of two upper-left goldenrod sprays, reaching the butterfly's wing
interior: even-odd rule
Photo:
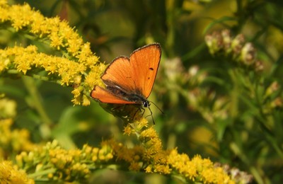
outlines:
[[[90,104],[88,97],[83,96],[83,91],[89,91],[96,84],[102,83],[100,74],[105,69],[105,65],[100,64],[84,77],[83,75],[87,70],[85,63],[72,62],[64,57],[54,57],[38,53],[37,47],[33,45],[26,48],[15,46],[6,50],[0,50],[0,59],[0,72],[8,71],[8,69],[15,67],[19,72],[27,74],[28,71],[37,67],[45,69],[49,76],[52,75],[50,80],[58,79],[61,85],[66,86],[74,84],[74,100],[72,101],[75,104],[83,105]],[[85,79],[84,83],[82,83],[83,79]]]

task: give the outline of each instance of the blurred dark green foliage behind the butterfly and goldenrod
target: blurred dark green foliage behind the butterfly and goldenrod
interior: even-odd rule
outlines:
[[[191,157],[200,154],[227,163],[252,173],[255,183],[283,180],[282,108],[258,115],[255,112],[264,109],[265,103],[257,103],[249,94],[265,91],[272,81],[282,85],[282,1],[12,1],[23,2],[47,17],[69,21],[91,42],[101,62],[110,63],[138,47],[159,42],[162,59],[149,100],[165,113],[152,105],[164,149],[178,147]],[[256,48],[264,66],[258,80],[253,84],[256,77],[248,76],[249,71],[240,74],[243,79],[250,77],[248,87],[259,86],[254,91],[231,77],[238,67],[233,59],[209,54],[204,36],[222,29],[231,30],[233,36],[243,34]],[[2,48],[20,42],[16,35],[1,37]],[[29,82],[37,86],[35,91],[28,88]],[[88,107],[74,107],[71,88],[33,79],[0,79],[0,83],[0,91],[18,103],[14,126],[28,128],[34,142],[58,139],[69,149],[86,143],[97,146],[115,137],[125,144],[137,144],[135,137],[122,134],[122,121],[96,101]],[[275,96],[282,97],[281,90]],[[109,175],[113,177],[105,178]],[[178,183],[164,176],[122,171],[98,171],[93,178],[108,183],[117,178],[121,183]]]

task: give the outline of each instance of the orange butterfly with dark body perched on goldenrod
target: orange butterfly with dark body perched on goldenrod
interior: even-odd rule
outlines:
[[[95,86],[91,97],[101,103],[149,108],[147,98],[154,86],[160,59],[161,46],[158,43],[140,47],[129,57],[115,58],[100,77],[106,87]]]

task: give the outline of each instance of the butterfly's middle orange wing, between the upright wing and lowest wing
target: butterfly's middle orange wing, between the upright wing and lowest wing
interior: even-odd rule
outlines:
[[[124,91],[135,91],[132,67],[128,57],[114,59],[105,69],[101,79],[108,86],[119,86]]]

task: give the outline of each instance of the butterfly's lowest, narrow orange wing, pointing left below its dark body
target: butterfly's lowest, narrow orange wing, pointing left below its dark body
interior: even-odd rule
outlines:
[[[91,97],[99,100],[102,103],[120,103],[120,104],[133,104],[134,102],[123,100],[122,98],[115,96],[110,91],[95,86],[91,91]]]

